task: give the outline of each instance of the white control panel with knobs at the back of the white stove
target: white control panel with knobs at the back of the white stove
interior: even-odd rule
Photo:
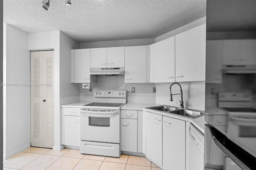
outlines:
[[[97,90],[94,92],[94,97],[126,97],[126,91],[122,90]]]

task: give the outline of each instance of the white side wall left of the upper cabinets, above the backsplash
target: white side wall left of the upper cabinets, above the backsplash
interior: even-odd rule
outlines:
[[[79,95],[79,84],[71,83],[71,49],[80,43],[60,32],[60,97]]]

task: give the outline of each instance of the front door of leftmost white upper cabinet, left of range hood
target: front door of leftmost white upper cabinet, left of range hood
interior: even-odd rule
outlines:
[[[90,49],[74,50],[74,83],[90,83]]]

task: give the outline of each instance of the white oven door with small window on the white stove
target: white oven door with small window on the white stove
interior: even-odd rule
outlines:
[[[80,139],[120,143],[120,110],[81,109]]]

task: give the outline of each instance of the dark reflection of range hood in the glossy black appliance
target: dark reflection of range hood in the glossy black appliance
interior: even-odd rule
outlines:
[[[256,65],[222,65],[222,73],[253,74],[256,73]]]

